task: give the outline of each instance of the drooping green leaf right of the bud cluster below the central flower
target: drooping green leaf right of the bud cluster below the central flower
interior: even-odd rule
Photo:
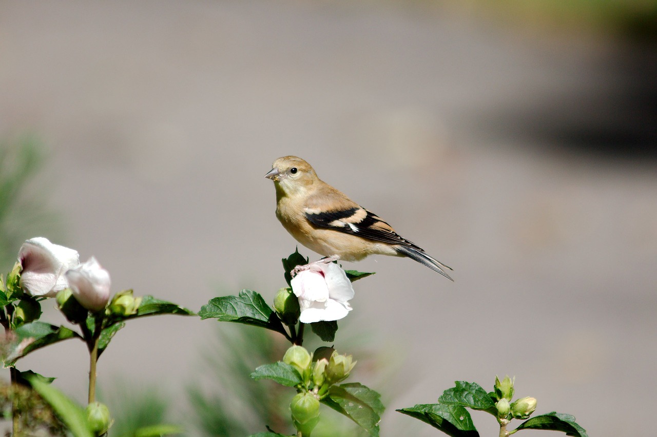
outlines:
[[[332,386],[321,402],[349,417],[371,436],[378,437],[378,423],[385,409],[380,397],[380,394],[360,383],[348,383]]]

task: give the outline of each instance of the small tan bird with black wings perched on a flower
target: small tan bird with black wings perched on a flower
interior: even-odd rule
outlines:
[[[354,262],[369,255],[408,257],[453,281],[445,272],[451,267],[321,180],[304,159],[279,157],[265,178],[276,188],[276,217],[299,243],[325,257],[316,262]]]

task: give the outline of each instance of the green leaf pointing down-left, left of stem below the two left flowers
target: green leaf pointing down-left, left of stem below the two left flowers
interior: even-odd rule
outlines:
[[[55,326],[45,322],[26,323],[14,331],[16,339],[12,342],[7,357],[3,360],[5,367],[14,365],[19,358],[30,352],[67,339],[78,337],[76,331],[64,326]]]

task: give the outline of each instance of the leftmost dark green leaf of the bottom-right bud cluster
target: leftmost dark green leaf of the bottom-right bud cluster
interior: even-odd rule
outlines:
[[[479,437],[470,413],[462,406],[420,404],[397,411],[428,423],[451,437]]]

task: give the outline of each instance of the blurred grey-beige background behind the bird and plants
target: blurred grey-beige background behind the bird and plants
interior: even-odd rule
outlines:
[[[345,264],[378,272],[336,345],[374,357],[355,379],[386,397],[383,436],[440,435],[394,409],[507,373],[591,436],[654,435],[656,17],[638,0],[2,0],[1,144],[41,144],[27,192],[49,211],[29,231],[14,217],[3,250],[49,236],[115,291],[193,310],[271,300],[296,242],[263,175],[298,155],[455,270]],[[129,323],[101,387],[156,386],[168,419],[188,415],[217,325]],[[85,398],[81,343],[21,367]]]

